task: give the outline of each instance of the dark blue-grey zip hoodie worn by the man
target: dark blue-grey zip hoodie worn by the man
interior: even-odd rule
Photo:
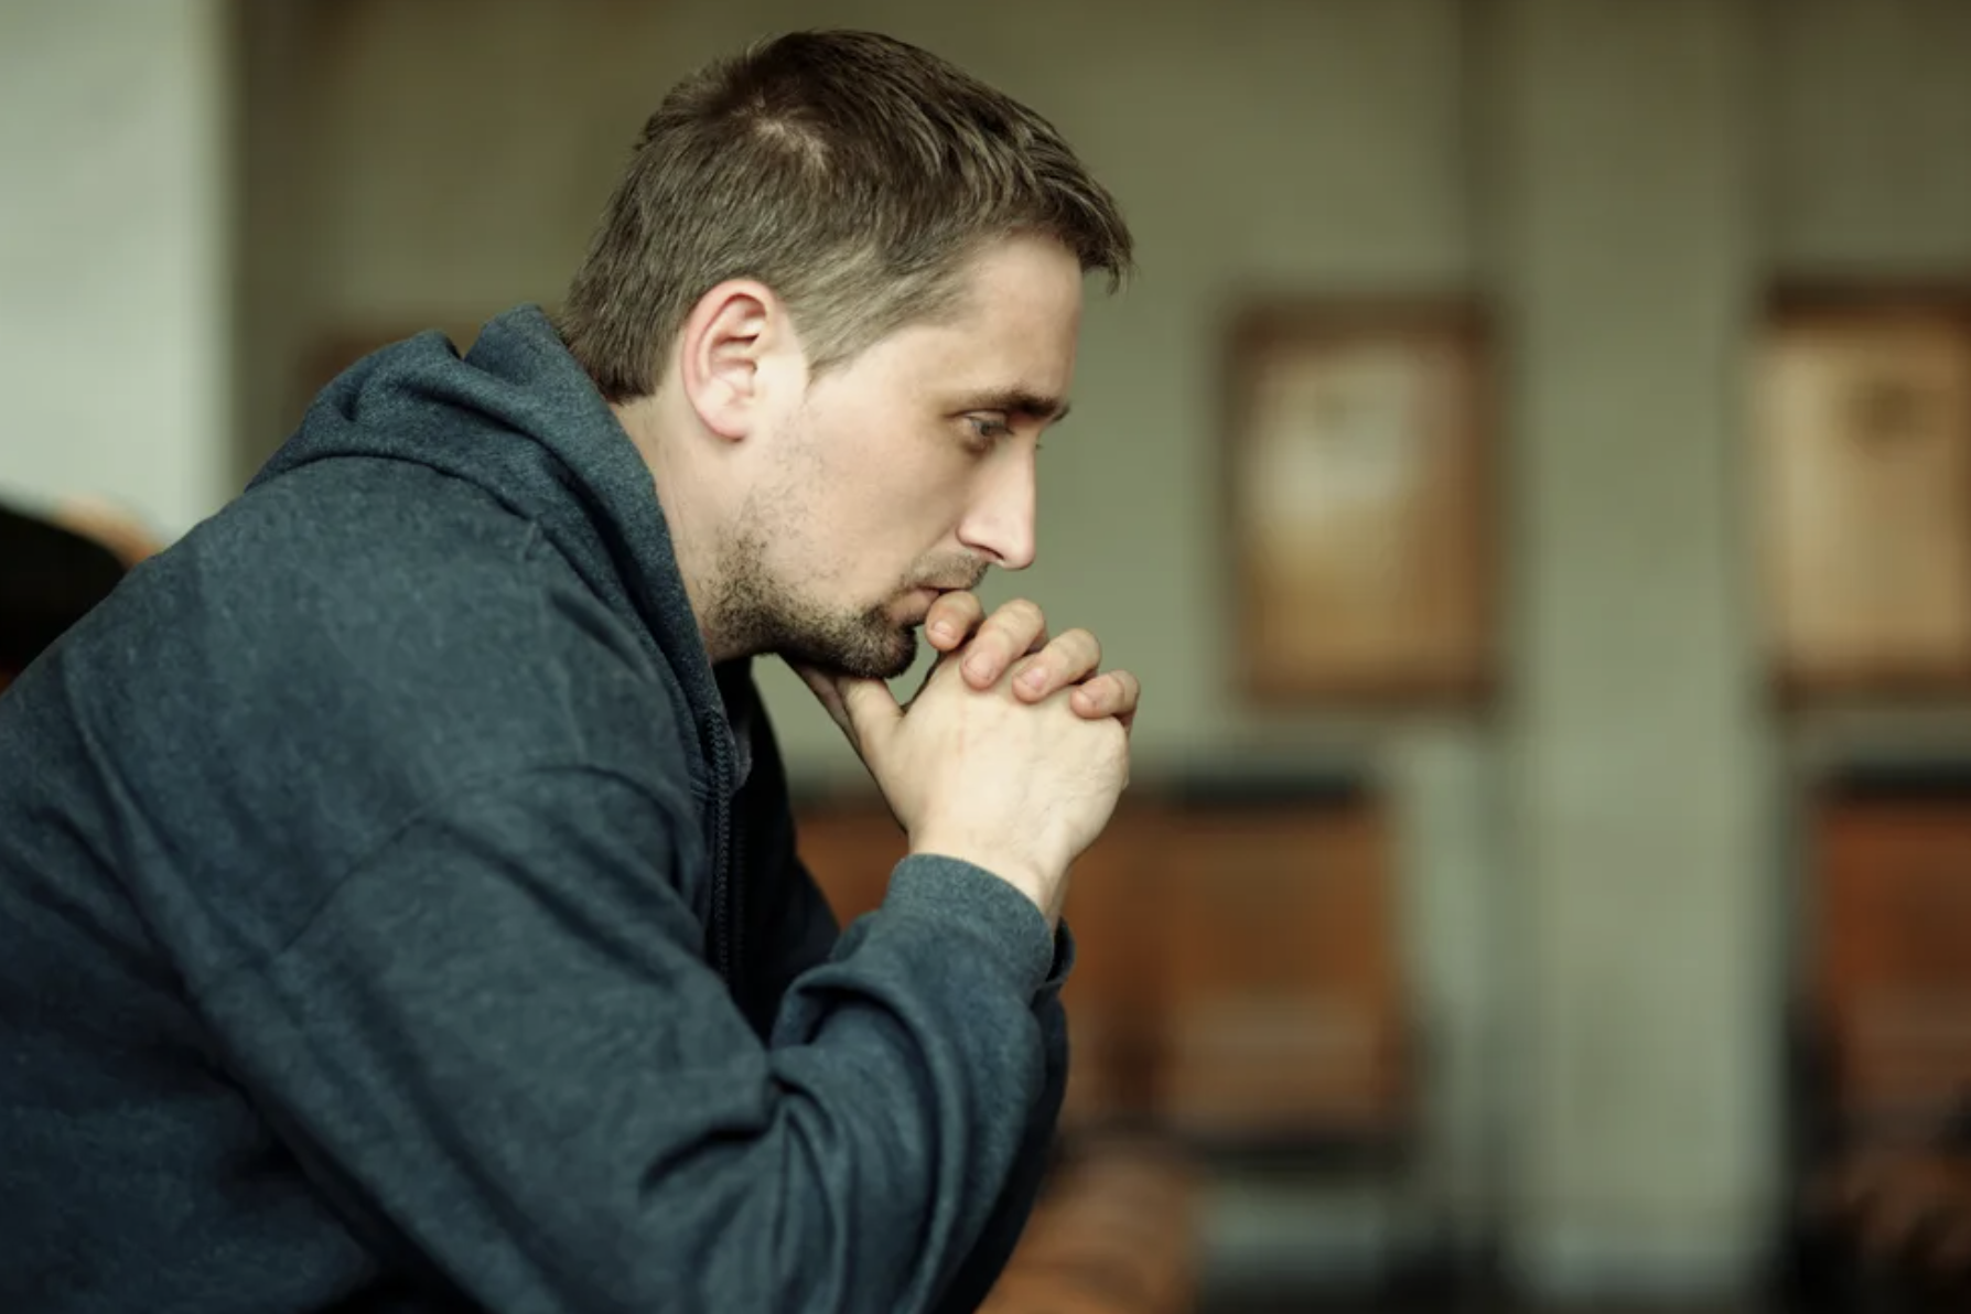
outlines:
[[[838,938],[548,317],[420,335],[0,695],[0,1308],[972,1308],[1070,959]]]

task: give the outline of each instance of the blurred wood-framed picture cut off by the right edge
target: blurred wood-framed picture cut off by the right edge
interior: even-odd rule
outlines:
[[[1782,693],[1971,690],[1971,299],[1776,297],[1748,431]]]

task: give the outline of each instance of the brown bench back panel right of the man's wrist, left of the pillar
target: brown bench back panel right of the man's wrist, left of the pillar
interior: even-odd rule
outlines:
[[[1358,790],[1234,792],[1163,814],[1159,1125],[1222,1147],[1405,1143],[1392,847],[1382,806]]]

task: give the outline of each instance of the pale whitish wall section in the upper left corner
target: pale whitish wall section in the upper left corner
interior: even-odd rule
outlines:
[[[225,498],[227,51],[219,0],[0,0],[0,496]]]

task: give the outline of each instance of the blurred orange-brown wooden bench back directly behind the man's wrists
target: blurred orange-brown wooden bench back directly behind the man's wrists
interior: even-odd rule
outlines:
[[[838,916],[881,904],[879,800],[798,812]],[[1062,1129],[1200,1147],[1401,1147],[1413,1111],[1390,823],[1368,790],[1131,792],[1076,863]]]

